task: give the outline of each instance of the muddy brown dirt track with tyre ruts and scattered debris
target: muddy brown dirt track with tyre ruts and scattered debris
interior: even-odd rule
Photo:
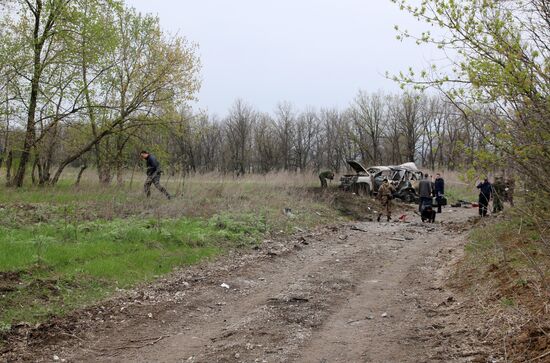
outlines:
[[[351,223],[265,241],[35,329],[3,358],[475,361],[478,339],[462,320],[461,297],[445,287],[473,214],[447,210],[422,224],[409,213],[411,223]]]

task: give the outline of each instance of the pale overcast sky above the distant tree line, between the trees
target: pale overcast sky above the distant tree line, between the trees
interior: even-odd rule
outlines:
[[[386,71],[421,67],[434,51],[395,39],[424,27],[389,0],[126,0],[199,44],[198,107],[220,116],[241,98],[262,111],[346,107],[359,89],[398,91]]]

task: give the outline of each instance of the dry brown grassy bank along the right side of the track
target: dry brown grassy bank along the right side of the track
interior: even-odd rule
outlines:
[[[454,279],[485,313],[485,339],[509,361],[539,361],[550,349],[550,251],[541,233],[513,210],[478,226]]]

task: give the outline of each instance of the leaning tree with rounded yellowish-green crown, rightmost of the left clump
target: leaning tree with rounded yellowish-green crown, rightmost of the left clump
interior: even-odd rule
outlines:
[[[82,81],[91,132],[84,130],[80,147],[61,160],[52,184],[57,183],[67,165],[92,149],[100,180],[109,182],[112,167],[109,161],[116,162],[122,157],[128,136],[135,135],[136,129],[143,126],[166,121],[162,118],[164,111],[193,99],[200,86],[195,45],[181,37],[166,36],[156,17],[123,7],[111,9],[110,14],[113,23],[107,28],[99,26],[98,30],[112,32],[109,36],[114,46],[101,48],[103,57],[90,61],[86,56],[85,48],[94,39],[93,33],[82,37],[88,41],[81,42]],[[100,41],[101,38],[99,43],[96,39],[95,44],[103,47]],[[94,69],[93,77],[90,68]]]

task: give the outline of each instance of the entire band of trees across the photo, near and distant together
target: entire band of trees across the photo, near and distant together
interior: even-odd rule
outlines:
[[[118,0],[3,2],[0,167],[7,183],[21,186],[30,173],[35,183],[55,184],[68,165],[96,168],[105,184],[121,182],[145,148],[174,173],[339,172],[346,159],[510,166],[548,193],[541,173],[549,159],[547,2],[530,1],[526,12],[506,1],[418,8],[392,1],[449,30],[443,39],[424,33],[416,40],[458,54],[449,60],[454,78],[435,66],[420,79],[396,77],[441,96],[361,91],[346,109],[281,103],[271,113],[238,100],[223,118],[186,106],[199,88],[196,47],[164,34],[155,17]]]

